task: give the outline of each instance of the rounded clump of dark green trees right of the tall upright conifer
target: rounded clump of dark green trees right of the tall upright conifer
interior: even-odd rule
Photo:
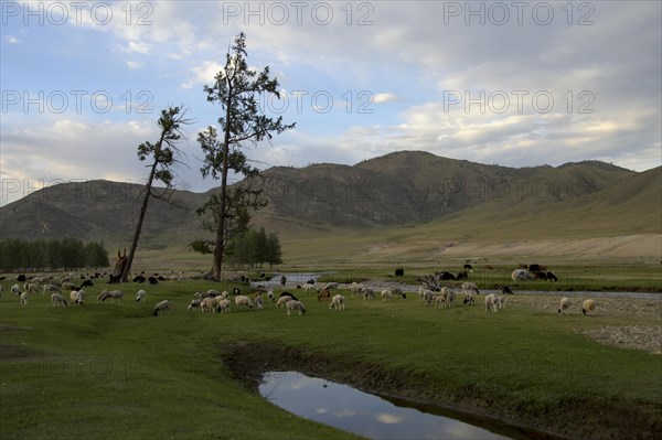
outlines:
[[[282,249],[278,235],[275,233],[267,235],[264,227],[236,235],[228,250],[228,260],[238,266],[248,265],[253,268],[263,264],[268,264],[269,267],[282,264]]]

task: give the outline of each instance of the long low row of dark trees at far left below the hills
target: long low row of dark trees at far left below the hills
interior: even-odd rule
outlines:
[[[0,242],[0,269],[78,269],[108,267],[108,251],[104,243],[84,244],[77,238]]]

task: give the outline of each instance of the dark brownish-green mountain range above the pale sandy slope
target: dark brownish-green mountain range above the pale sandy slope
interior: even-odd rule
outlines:
[[[600,161],[506,168],[401,151],[355,165],[275,167],[258,182],[269,205],[254,222],[285,239],[467,218],[474,228],[596,228],[602,235],[661,233],[662,168],[638,173]],[[9,237],[130,244],[141,186],[109,181],[63,183],[0,208],[0,239]],[[142,248],[180,246],[204,237],[195,208],[209,193],[175,191],[172,204],[152,200]],[[483,223],[481,223],[483,222]],[[545,226],[546,225],[546,226]],[[557,232],[558,232],[557,230]]]

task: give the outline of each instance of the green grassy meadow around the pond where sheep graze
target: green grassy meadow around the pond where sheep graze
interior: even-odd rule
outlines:
[[[389,270],[334,277],[388,281]],[[619,273],[596,281],[595,270],[586,270],[577,279],[595,290],[623,280],[654,286],[659,268]],[[415,273],[406,270],[406,277]],[[288,289],[306,303],[303,316],[288,316],[273,303],[259,311],[233,307],[222,315],[188,311],[193,292],[245,286],[161,282],[143,286],[147,301],[137,303],[140,287],[122,285],[120,304],[97,301],[105,288],[97,283],[84,305],[53,308],[41,293],[20,305],[7,285],[0,298],[3,439],[356,438],[263,399],[256,380],[273,367],[490,416],[503,429],[524,427],[531,434],[652,439],[662,432],[662,356],[585,334],[659,326],[659,299],[641,300],[639,310],[652,308],[647,313],[616,312],[609,300],[602,309],[598,303],[595,316],[584,316],[577,305],[559,315],[528,294],[484,313],[482,294],[476,307],[440,310],[415,296],[382,302],[343,291],[346,310],[337,312],[312,293]],[[174,308],[154,318],[153,304],[162,299]]]

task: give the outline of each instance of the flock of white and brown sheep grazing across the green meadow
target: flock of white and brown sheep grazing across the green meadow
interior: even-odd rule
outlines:
[[[538,270],[540,271],[540,270]],[[524,279],[530,279],[527,269],[515,269],[512,272],[513,281],[521,281]],[[526,273],[526,276],[524,275]],[[548,272],[553,273],[553,272]],[[556,278],[554,276],[554,278]],[[31,280],[26,280],[23,286],[14,285],[11,287],[11,292],[19,297],[19,302],[23,305],[28,304],[28,297],[33,293],[38,293],[40,291],[40,286],[42,293],[51,293],[51,303],[53,307],[67,307],[71,302],[72,304],[82,305],[86,299],[86,292],[82,287],[77,287],[73,283],[74,276],[70,273],[68,276],[55,278],[55,277],[35,277]],[[178,278],[179,281],[179,278]],[[282,283],[282,282],[281,282]],[[90,287],[93,286],[89,280],[84,282],[82,286]],[[418,298],[420,301],[425,303],[426,307],[435,307],[435,308],[447,308],[455,307],[457,292],[451,287],[440,287],[439,285],[436,288],[430,289],[429,283],[421,286],[418,289]],[[329,309],[332,310],[344,310],[345,308],[345,297],[343,294],[332,294],[332,291],[340,288],[338,282],[329,282],[323,288],[320,288],[314,285],[313,280],[308,281],[303,286],[298,286],[298,288],[302,289],[305,292],[317,292],[318,301],[329,301]],[[470,281],[465,281],[460,286],[461,293],[463,294],[462,303],[466,305],[473,305],[476,303],[474,296],[479,294],[480,291],[478,286]],[[501,293],[489,293],[484,297],[484,311],[485,312],[498,312],[501,309],[505,308],[505,297],[503,294],[512,293],[509,287],[501,287]],[[351,292],[351,297],[354,298],[359,296],[363,298],[363,300],[375,299],[375,288],[370,286],[365,286],[363,283],[352,282],[351,286],[348,287],[348,290]],[[70,291],[68,299],[63,294],[63,292]],[[1,292],[1,288],[0,288]],[[280,293],[279,298],[276,299],[274,291],[268,290],[265,291],[263,289],[257,290],[253,298],[246,294],[241,294],[239,289],[234,289],[234,305],[237,310],[250,310],[263,309],[263,294],[267,297],[269,301],[276,303],[277,308],[285,308],[287,310],[287,314],[290,315],[292,312],[298,313],[299,315],[303,315],[306,313],[306,305],[301,302],[293,293],[284,291]],[[402,297],[406,299],[406,293],[399,287],[389,287],[387,289],[383,289],[378,292],[382,301],[393,301],[397,297]],[[143,289],[140,289],[136,293],[137,302],[145,302],[147,299],[147,292]],[[110,300],[110,302],[124,301],[124,293],[120,290],[109,290],[103,289],[100,293],[97,296],[98,301]],[[188,307],[189,311],[200,311],[200,312],[218,312],[218,313],[228,313],[231,311],[233,300],[231,300],[231,294],[228,291],[224,290],[218,292],[215,289],[209,289],[206,292],[195,292],[194,298],[191,300],[191,303]],[[563,298],[559,303],[558,313],[566,314],[570,309],[572,302],[568,298]],[[170,300],[163,300],[158,302],[153,308],[153,315],[158,316],[164,311],[170,311],[173,308],[173,303]],[[595,300],[588,299],[585,300],[581,304],[581,312],[585,315],[591,314],[595,312],[596,303]]]

